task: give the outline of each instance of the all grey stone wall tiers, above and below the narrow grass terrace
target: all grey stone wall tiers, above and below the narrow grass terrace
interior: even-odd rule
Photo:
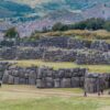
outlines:
[[[73,62],[78,65],[110,65],[110,44],[78,40],[74,36],[45,36],[36,41],[0,41],[0,59],[42,59]],[[98,92],[110,88],[110,74],[88,73],[88,68],[18,67],[0,63],[0,80],[9,85],[34,85],[37,88],[82,88]]]

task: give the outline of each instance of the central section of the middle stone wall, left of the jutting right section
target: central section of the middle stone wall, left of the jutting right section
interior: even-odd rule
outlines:
[[[76,61],[77,51],[73,50],[47,50],[44,53],[45,62],[74,62]]]

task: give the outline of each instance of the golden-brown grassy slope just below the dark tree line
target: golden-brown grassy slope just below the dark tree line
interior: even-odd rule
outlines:
[[[69,30],[69,31],[57,31],[47,33],[36,33],[33,37],[38,36],[73,36],[80,40],[105,40],[110,43],[110,32],[105,30],[88,31],[88,30]]]

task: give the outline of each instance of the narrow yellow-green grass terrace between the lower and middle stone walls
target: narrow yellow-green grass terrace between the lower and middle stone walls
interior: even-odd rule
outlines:
[[[6,61],[2,61],[6,62]],[[10,63],[18,63],[19,66],[48,66],[54,67],[54,69],[58,68],[75,68],[75,67],[81,67],[81,68],[89,68],[89,72],[92,73],[110,73],[110,66],[109,65],[77,65],[74,63],[51,63],[51,62],[43,62],[43,61],[8,61]]]

